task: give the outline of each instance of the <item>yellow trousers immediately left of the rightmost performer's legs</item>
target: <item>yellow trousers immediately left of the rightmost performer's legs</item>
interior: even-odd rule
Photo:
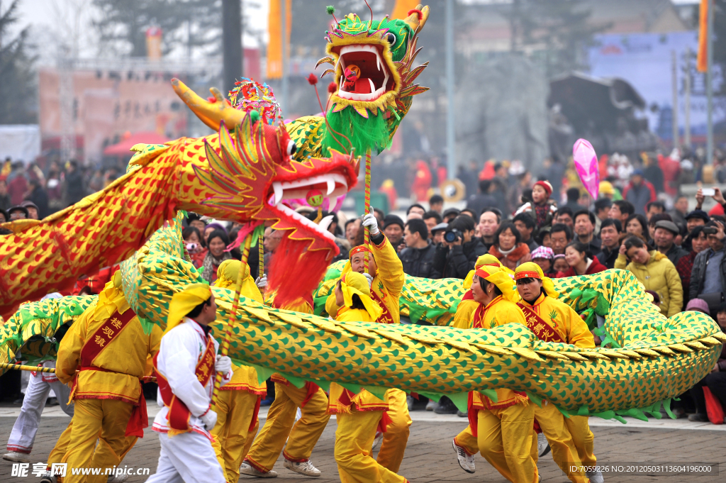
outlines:
[[[532,405],[478,411],[481,455],[510,482],[537,482],[537,465],[531,456],[533,424]]]

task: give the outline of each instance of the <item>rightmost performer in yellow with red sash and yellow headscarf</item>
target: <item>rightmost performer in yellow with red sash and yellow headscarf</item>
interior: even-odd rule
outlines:
[[[515,270],[517,291],[522,297],[519,304],[527,320],[527,326],[539,339],[546,342],[573,344],[577,347],[592,349],[595,347],[590,329],[577,312],[568,304],[557,300],[552,280],[544,276],[542,269],[534,262],[528,261]],[[552,447],[552,458],[567,474],[573,483],[602,483],[600,471],[571,471],[573,467],[584,466],[594,468],[596,464],[594,439],[587,416],[570,416],[566,418],[560,410],[547,401],[542,407],[534,406],[534,418],[542,428],[544,436]],[[535,457],[537,453],[534,453]]]

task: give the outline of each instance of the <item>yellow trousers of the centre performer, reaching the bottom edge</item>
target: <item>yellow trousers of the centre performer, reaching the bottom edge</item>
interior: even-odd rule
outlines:
[[[404,483],[403,476],[382,466],[372,457],[375,431],[383,411],[340,413],[335,431],[335,463],[341,483]]]

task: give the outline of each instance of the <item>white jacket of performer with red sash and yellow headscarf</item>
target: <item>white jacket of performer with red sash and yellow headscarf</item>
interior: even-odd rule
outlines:
[[[214,338],[212,341],[216,354],[219,343]],[[211,405],[215,374],[212,373],[206,386],[202,386],[195,376],[197,364],[203,356],[206,346],[203,328],[194,320],[186,317],[184,322],[169,330],[161,338],[156,370],[166,378],[171,386],[171,391],[187,405],[189,412],[192,413],[189,418],[189,427],[192,431],[211,437],[199,417],[206,413]],[[232,370],[224,375],[222,385],[228,383],[230,379],[232,379]],[[156,400],[162,409],[154,418],[152,429],[166,433],[169,430],[166,418],[168,407],[164,406],[160,391],[158,391]]]

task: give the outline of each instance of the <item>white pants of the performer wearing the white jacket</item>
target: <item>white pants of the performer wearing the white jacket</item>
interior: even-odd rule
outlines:
[[[211,441],[190,432],[168,437],[159,433],[161,452],[156,474],[147,483],[226,483]]]

